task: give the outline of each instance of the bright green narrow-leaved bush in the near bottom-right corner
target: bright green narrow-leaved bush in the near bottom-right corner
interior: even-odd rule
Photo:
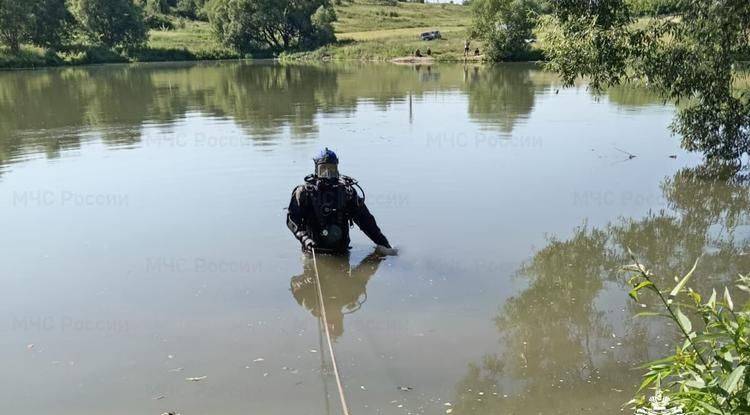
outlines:
[[[627,270],[634,273],[631,297],[638,301],[648,291],[664,309],[642,314],[666,317],[683,339],[674,355],[648,365],[639,393],[656,385],[685,414],[750,413],[750,304],[735,306],[727,288],[721,299],[714,290],[704,300],[687,287],[695,266],[668,293],[657,285],[661,279],[637,261]],[[750,277],[739,278],[737,288],[750,292]],[[631,403],[641,407],[645,397]]]

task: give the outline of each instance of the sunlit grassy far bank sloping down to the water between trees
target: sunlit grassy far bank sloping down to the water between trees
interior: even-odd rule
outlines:
[[[463,59],[463,42],[471,24],[471,10],[454,4],[398,3],[388,6],[357,0],[336,6],[338,42],[314,51],[285,52],[286,60],[390,60],[431,49],[437,61]],[[0,48],[0,68],[83,65],[152,61],[184,61],[272,57],[269,53],[240,56],[216,42],[207,22],[174,19],[173,30],[152,30],[146,48],[124,53],[77,45],[51,52],[24,46],[18,54]],[[425,42],[419,34],[440,30],[443,39]],[[472,43],[472,49],[482,45]]]

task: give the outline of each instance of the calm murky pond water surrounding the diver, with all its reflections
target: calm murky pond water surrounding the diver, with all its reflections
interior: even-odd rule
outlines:
[[[0,73],[2,413],[339,413],[284,211],[323,146],[401,248],[321,260],[352,412],[620,413],[674,338],[627,247],[750,269],[748,187],[673,114],[525,65]]]

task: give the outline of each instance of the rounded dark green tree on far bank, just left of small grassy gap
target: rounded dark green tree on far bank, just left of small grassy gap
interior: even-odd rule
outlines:
[[[95,43],[133,48],[148,40],[143,9],[132,0],[75,0],[73,13]]]

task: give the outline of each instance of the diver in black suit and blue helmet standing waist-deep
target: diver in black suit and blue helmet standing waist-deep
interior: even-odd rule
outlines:
[[[381,255],[396,255],[365,205],[364,191],[351,177],[339,175],[339,159],[329,149],[315,161],[315,173],[292,192],[287,226],[305,252],[349,252],[349,228],[357,224],[377,245]],[[356,188],[362,192],[359,195]]]

